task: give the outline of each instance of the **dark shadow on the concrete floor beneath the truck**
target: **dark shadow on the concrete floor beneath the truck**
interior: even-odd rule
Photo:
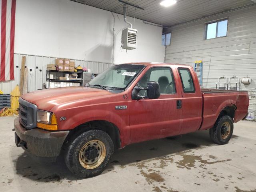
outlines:
[[[232,139],[237,137],[233,135]],[[208,131],[131,144],[115,152],[110,164],[102,174],[112,171],[114,165],[125,166],[143,160],[173,155],[189,149],[199,150],[212,145],[215,144],[210,140]],[[74,176],[66,168],[63,154],[57,158],[56,162],[52,163],[24,152],[13,162],[18,175],[38,182],[61,183],[64,178],[70,182],[82,179]]]

